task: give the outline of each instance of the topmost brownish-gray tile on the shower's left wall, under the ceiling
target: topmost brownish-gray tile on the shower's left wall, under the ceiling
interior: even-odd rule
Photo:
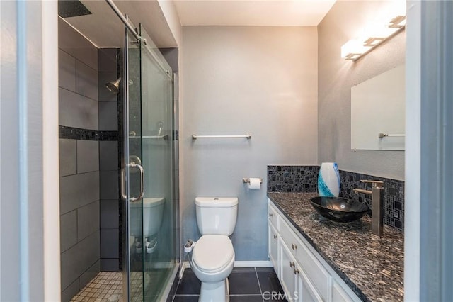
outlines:
[[[98,49],[62,19],[58,19],[58,47],[89,67],[98,69]]]

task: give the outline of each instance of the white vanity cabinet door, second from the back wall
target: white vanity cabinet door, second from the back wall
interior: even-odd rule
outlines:
[[[297,267],[296,260],[282,242],[280,242],[280,257],[282,259],[280,284],[282,284],[283,291],[285,291],[285,297],[288,301],[298,301],[299,282],[294,272],[295,267]]]

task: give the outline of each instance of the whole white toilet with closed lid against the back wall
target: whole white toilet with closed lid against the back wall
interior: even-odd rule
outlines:
[[[236,226],[238,198],[197,197],[195,208],[202,237],[193,246],[190,267],[201,281],[200,301],[229,301],[234,250],[228,236]]]

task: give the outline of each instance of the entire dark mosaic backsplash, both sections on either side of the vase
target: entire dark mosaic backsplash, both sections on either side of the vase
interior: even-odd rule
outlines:
[[[318,191],[319,166],[268,166],[268,192]],[[371,208],[371,196],[352,189],[371,190],[362,179],[384,181],[384,223],[404,230],[404,181],[340,170],[340,197],[355,199]]]

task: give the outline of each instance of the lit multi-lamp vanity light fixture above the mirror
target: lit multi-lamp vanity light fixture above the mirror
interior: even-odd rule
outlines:
[[[362,38],[349,40],[341,47],[341,57],[355,61],[374,47],[396,35],[406,26],[406,16],[398,15],[386,24],[374,24],[364,30]]]

